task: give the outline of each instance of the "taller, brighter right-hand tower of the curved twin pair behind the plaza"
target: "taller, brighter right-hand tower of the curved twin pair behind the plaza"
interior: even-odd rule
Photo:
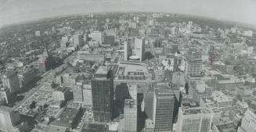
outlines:
[[[135,55],[139,56],[139,60],[144,60],[145,39],[143,37],[135,37]]]

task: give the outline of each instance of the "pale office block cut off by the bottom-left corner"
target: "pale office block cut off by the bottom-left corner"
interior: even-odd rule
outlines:
[[[20,115],[18,112],[14,112],[13,109],[0,106],[0,131],[13,132],[13,125],[16,125],[20,121]]]

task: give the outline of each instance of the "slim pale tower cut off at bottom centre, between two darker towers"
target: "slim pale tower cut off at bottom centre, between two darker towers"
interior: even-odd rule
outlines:
[[[137,101],[126,99],[124,102],[124,132],[137,131]]]

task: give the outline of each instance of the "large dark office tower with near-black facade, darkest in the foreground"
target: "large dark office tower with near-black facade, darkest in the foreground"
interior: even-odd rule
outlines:
[[[109,123],[113,114],[113,71],[99,66],[92,79],[92,110],[96,122]]]

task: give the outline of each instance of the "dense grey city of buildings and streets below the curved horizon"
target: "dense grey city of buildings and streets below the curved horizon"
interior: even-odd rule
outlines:
[[[0,29],[0,132],[256,132],[256,29],[96,12]]]

